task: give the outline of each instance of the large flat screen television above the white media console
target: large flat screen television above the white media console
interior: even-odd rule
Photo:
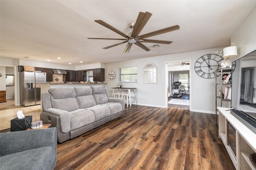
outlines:
[[[232,63],[230,113],[256,133],[256,50]]]

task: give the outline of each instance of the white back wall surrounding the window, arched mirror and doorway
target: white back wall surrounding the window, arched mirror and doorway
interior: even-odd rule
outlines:
[[[112,87],[115,87],[119,81],[119,68],[126,66],[138,66],[138,83],[122,83],[122,87],[137,88],[138,104],[143,106],[166,107],[167,106],[167,86],[166,76],[168,69],[166,63],[171,61],[191,60],[190,62],[190,101],[191,110],[204,113],[215,113],[215,78],[201,78],[194,71],[196,60],[202,55],[213,54],[219,48],[205,49],[200,51],[191,51],[164,56],[149,57],[116,63],[106,63],[105,82],[108,94],[112,94]],[[143,84],[143,68],[148,63],[154,63],[157,67],[157,84]],[[108,72],[114,70],[116,78],[108,79]],[[196,81],[198,80],[198,82]],[[191,91],[192,90],[192,91]]]

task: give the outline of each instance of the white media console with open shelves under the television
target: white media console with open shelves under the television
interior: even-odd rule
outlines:
[[[226,107],[219,110],[219,137],[237,170],[256,170],[249,155],[256,152],[256,134],[234,117]]]

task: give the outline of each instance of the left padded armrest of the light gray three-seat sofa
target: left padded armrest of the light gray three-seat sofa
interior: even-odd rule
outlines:
[[[63,133],[68,133],[70,131],[70,113],[68,111],[50,108],[46,109],[46,112],[60,116],[60,127]]]

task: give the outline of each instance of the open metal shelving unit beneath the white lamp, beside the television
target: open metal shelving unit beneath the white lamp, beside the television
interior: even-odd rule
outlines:
[[[225,87],[232,87],[231,83],[226,83],[224,84],[222,82],[222,76],[223,74],[231,74],[232,68],[221,68],[220,70],[216,71],[216,75],[220,73],[220,76],[216,76],[215,82],[216,82],[216,88],[215,88],[215,94],[216,94],[216,100],[215,100],[215,105],[216,105],[216,123],[217,123],[217,113],[218,113],[218,107],[231,107],[231,99],[224,99],[224,96],[222,96]],[[219,96],[220,93],[220,96]],[[230,91],[231,93],[231,91]],[[226,102],[228,105],[224,105],[224,102]],[[219,104],[220,103],[220,104]]]

